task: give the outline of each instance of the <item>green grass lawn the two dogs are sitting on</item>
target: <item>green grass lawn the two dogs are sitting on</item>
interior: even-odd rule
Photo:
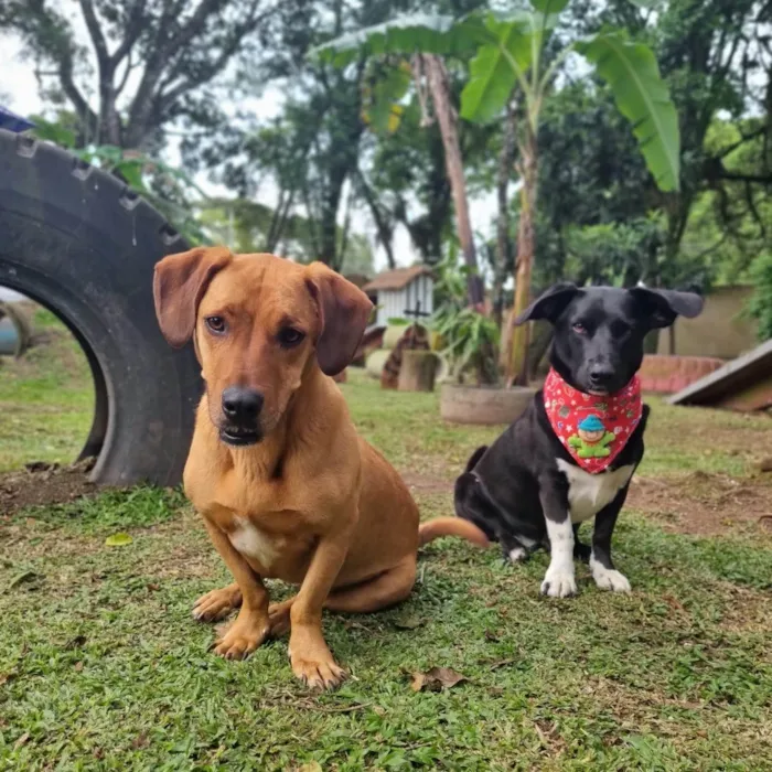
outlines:
[[[51,335],[0,365],[6,469],[71,459],[87,433],[87,368]],[[497,431],[444,425],[436,395],[342,388],[423,516],[450,514]],[[352,678],[321,696],[286,640],[242,663],[207,651],[191,604],[229,578],[178,492],[0,513],[0,770],[772,769],[772,475],[754,471],[772,420],[652,401],[614,537],[631,596],[581,566],[578,598],[542,598],[544,554],[515,568],[442,539],[401,607],[325,616]],[[106,546],[117,530],[132,542]],[[435,666],[467,680],[414,691]]]

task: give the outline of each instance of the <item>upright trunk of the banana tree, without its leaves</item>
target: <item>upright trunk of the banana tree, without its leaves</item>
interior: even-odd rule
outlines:
[[[510,324],[527,308],[530,301],[530,275],[534,266],[534,217],[538,182],[536,137],[527,129],[524,146],[521,148],[522,178],[521,222],[517,232],[517,261],[515,265],[515,304]],[[507,362],[506,383],[517,386],[528,385],[528,325],[516,326],[512,333],[512,355]]]

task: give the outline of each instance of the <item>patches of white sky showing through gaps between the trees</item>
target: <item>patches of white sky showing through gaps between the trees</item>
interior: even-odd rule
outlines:
[[[83,24],[82,17],[78,13],[72,14],[72,20],[78,37],[84,43],[88,43],[88,36]],[[15,36],[0,33],[0,99],[8,98],[6,107],[14,112],[29,116],[43,110],[43,103],[39,95],[39,84],[34,75],[33,63],[23,61],[21,57],[21,42]],[[83,84],[79,84],[83,85]],[[94,90],[92,88],[92,90]],[[128,92],[131,89],[128,88]],[[87,89],[84,89],[88,96]],[[251,109],[255,114],[267,117],[278,112],[281,105],[281,96],[277,89],[267,89],[260,99],[253,99],[247,103],[234,105],[234,111],[240,109]],[[96,101],[92,98],[92,104],[96,106]],[[168,160],[175,163],[179,160],[179,154],[174,148],[168,151]],[[195,178],[196,183],[210,195],[233,196],[234,192],[221,185],[212,183],[206,174],[199,174]],[[277,191],[269,185],[261,186],[257,199],[267,204],[275,205]],[[490,195],[478,196],[470,201],[470,213],[472,217],[472,229],[476,233],[491,234],[495,222],[495,195],[491,192]],[[340,218],[343,218],[344,213],[340,213]],[[358,233],[364,233],[368,236],[371,244],[375,246],[375,227],[365,210],[360,210],[353,213],[352,228]],[[398,265],[409,266],[415,262],[419,255],[412,248],[410,238],[404,227],[399,227],[395,233],[394,255]],[[386,255],[383,248],[377,248],[375,251],[375,268],[383,270],[386,268]]]

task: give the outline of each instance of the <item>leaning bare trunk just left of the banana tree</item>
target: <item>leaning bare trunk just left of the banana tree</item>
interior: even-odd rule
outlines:
[[[472,224],[469,217],[467,180],[461,159],[457,116],[453,106],[450,104],[448,73],[439,56],[423,54],[422,60],[435,105],[437,122],[439,124],[440,133],[442,136],[448,180],[450,181],[453,203],[455,205],[455,222],[459,232],[459,242],[461,243],[461,251],[463,253],[464,262],[470,268],[468,278],[469,302],[471,305],[482,310],[484,301],[483,285],[478,272],[478,257],[474,250]]]

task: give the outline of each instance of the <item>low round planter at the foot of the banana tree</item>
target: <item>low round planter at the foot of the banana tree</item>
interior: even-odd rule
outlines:
[[[512,423],[528,407],[535,388],[443,384],[440,416],[453,423]]]

